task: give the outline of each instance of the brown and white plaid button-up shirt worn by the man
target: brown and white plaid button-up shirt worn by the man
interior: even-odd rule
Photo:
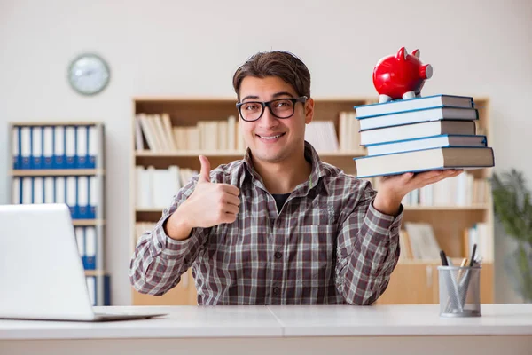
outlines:
[[[367,181],[321,162],[307,142],[305,156],[309,180],[280,212],[249,151],[212,170],[211,182],[240,189],[236,221],[176,241],[163,224],[192,194],[192,178],[138,241],[129,266],[134,288],[162,295],[192,266],[198,304],[372,304],[397,264],[403,206],[398,217],[380,213]]]

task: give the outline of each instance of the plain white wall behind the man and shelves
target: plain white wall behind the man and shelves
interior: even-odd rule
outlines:
[[[132,97],[232,96],[236,67],[271,49],[306,62],[314,96],[370,96],[379,58],[419,48],[434,67],[423,94],[489,96],[496,171],[515,167],[532,181],[531,23],[527,0],[0,0],[0,141],[10,121],[106,123],[106,263],[113,303],[129,304]],[[90,99],[66,82],[69,59],[82,51],[100,53],[112,68],[110,86]],[[10,162],[3,154],[0,203]],[[497,301],[514,300],[497,278]]]

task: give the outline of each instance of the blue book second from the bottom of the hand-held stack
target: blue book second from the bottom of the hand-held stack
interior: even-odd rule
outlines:
[[[481,135],[442,134],[434,137],[411,138],[397,140],[395,142],[370,144],[366,146],[366,149],[369,155],[379,155],[429,148],[465,146],[487,146],[487,138]]]

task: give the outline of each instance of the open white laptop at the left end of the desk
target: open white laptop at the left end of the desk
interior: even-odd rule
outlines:
[[[0,319],[106,321],[163,315],[94,312],[66,204],[0,205]]]

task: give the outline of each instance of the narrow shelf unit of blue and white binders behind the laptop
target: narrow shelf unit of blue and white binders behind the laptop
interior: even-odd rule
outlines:
[[[105,259],[104,125],[11,122],[10,201],[66,203],[93,305],[109,305]]]

